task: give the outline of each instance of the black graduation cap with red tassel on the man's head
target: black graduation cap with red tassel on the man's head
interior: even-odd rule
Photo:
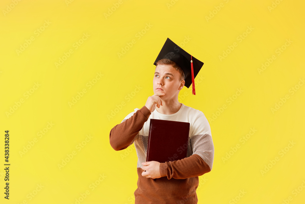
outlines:
[[[161,59],[174,61],[183,69],[185,75],[184,85],[189,88],[192,84],[192,94],[196,95],[194,79],[203,66],[203,62],[192,57],[192,55],[188,54],[169,38],[166,39],[156,61],[153,64],[157,65],[157,61]]]

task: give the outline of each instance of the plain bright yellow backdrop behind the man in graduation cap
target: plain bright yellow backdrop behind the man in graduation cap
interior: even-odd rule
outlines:
[[[113,150],[109,132],[153,95],[153,62],[167,37],[204,62],[198,74],[204,79],[195,79],[196,96],[184,87],[179,101],[216,118],[209,120],[213,169],[199,177],[198,203],[282,203],[289,196],[289,203],[303,203],[305,86],[298,83],[305,76],[304,6],[296,0],[2,0],[0,163],[4,169],[9,130],[11,165],[9,200],[0,170],[0,203],[70,204],[86,191],[90,194],[80,203],[134,203],[135,147]],[[38,35],[37,29],[43,31]],[[82,42],[84,34],[89,36]],[[239,35],[245,36],[242,41]],[[82,44],[76,49],[77,41]],[[233,43],[237,46],[227,50]],[[20,53],[21,46],[27,47]],[[63,57],[70,49],[73,53]],[[119,56],[122,49],[127,51]],[[224,52],[229,54],[220,59]],[[59,58],[66,60],[56,67]],[[293,94],[292,87],[298,88]],[[69,105],[83,89],[86,93]],[[238,89],[243,92],[236,98]],[[242,143],[251,128],[257,131]],[[45,131],[41,138],[40,131]],[[86,135],[92,138],[83,142]],[[79,149],[82,142],[86,145]],[[227,161],[226,153],[231,153]],[[279,161],[272,165],[275,157]],[[59,168],[63,159],[69,162]],[[271,168],[262,173],[265,165]],[[94,182],[99,185],[92,190]],[[302,191],[293,193],[298,187]],[[239,197],[240,191],[246,193]]]

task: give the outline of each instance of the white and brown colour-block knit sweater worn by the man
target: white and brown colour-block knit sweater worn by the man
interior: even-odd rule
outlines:
[[[190,123],[187,157],[181,160],[160,163],[161,178],[142,176],[142,162],[146,161],[150,119],[181,121]],[[135,144],[138,156],[138,188],[135,190],[135,204],[170,204],[198,202],[196,189],[199,177],[213,167],[214,145],[210,124],[200,110],[181,104],[174,114],[162,114],[155,109],[150,113],[146,106],[136,108],[124,120],[114,126],[109,134],[114,150],[124,150]]]

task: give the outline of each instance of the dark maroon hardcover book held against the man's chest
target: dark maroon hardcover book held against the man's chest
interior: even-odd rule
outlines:
[[[186,158],[190,123],[150,119],[146,161]]]

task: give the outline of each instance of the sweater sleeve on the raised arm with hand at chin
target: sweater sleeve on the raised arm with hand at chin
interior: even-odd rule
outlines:
[[[132,116],[131,114],[114,126],[109,133],[110,145],[116,151],[124,150],[134,142],[135,136],[143,128],[151,113],[146,106],[143,106],[133,112]]]

